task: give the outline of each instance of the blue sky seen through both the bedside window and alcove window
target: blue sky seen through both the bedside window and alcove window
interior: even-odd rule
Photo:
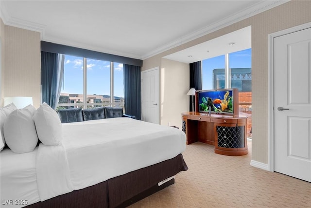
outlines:
[[[110,95],[110,62],[87,58],[87,95]],[[251,49],[229,54],[230,68],[251,68]],[[202,61],[203,90],[212,89],[213,69],[225,68],[225,55]],[[83,58],[65,56],[62,93],[83,94]],[[114,96],[124,97],[123,64],[114,63]]]

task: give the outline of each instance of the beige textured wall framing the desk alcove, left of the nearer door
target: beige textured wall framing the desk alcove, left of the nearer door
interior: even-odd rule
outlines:
[[[311,22],[311,1],[292,0],[258,15],[143,60],[142,70],[162,65],[161,57],[252,26],[252,160],[268,163],[268,34]],[[172,65],[170,67],[173,67]],[[170,70],[166,68],[166,70]],[[163,89],[165,92],[167,89]]]

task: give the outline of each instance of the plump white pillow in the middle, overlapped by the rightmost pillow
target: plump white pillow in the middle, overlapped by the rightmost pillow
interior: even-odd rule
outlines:
[[[3,132],[8,147],[16,153],[34,151],[38,136],[33,120],[34,106],[17,109],[9,114],[4,125]]]

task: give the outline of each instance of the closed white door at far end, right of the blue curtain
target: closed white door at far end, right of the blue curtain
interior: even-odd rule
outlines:
[[[159,124],[159,68],[141,72],[141,120]]]

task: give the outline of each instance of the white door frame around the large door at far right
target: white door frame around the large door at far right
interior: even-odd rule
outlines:
[[[311,22],[268,35],[268,170],[274,172],[274,38],[311,27]]]

